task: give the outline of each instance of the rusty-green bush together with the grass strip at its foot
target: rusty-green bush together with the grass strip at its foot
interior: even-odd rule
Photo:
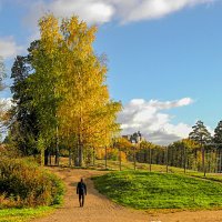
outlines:
[[[27,222],[52,212],[61,202],[63,184],[31,158],[0,145],[0,222]]]

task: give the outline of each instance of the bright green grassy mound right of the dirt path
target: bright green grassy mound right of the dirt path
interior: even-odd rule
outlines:
[[[93,179],[117,203],[140,210],[222,209],[222,183],[178,173],[112,172]]]

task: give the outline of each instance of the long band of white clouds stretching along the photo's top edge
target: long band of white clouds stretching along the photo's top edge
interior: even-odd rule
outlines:
[[[37,23],[44,12],[58,17],[77,14],[88,23],[104,23],[117,20],[120,23],[158,19],[175,11],[196,4],[212,3],[216,0],[53,0],[34,1],[27,4],[31,8],[28,22]]]

